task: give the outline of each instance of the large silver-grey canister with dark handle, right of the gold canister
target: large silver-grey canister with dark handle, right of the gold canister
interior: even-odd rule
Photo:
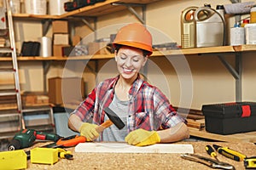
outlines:
[[[195,47],[224,45],[224,20],[215,9],[201,7],[195,10]]]

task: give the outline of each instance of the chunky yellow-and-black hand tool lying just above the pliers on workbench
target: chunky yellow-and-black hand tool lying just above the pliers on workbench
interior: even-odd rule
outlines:
[[[235,161],[243,161],[247,156],[239,153],[236,150],[230,150],[228,147],[222,147],[217,144],[213,144],[213,148],[218,151],[223,156],[226,156]]]

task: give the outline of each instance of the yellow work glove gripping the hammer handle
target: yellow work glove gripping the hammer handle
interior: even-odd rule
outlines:
[[[99,137],[99,133],[96,131],[96,124],[92,124],[89,122],[84,122],[79,128],[79,133],[81,136],[84,136],[87,141],[92,141]]]

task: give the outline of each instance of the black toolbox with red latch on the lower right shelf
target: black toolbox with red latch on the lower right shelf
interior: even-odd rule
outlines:
[[[209,133],[232,134],[256,130],[256,102],[202,105]]]

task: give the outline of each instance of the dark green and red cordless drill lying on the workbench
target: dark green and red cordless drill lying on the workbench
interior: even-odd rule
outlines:
[[[57,141],[61,137],[55,133],[44,133],[33,129],[22,129],[8,145],[8,150],[19,150],[32,146],[36,139]]]

